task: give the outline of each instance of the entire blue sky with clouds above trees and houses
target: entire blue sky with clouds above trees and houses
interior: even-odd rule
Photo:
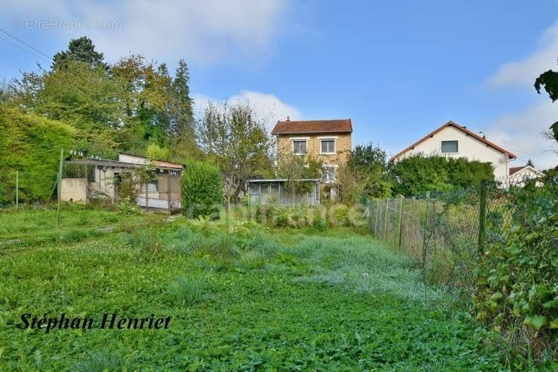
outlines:
[[[134,52],[172,68],[186,59],[198,111],[229,98],[250,101],[269,126],[287,114],[350,117],[354,144],[390,154],[451,119],[515,152],[518,165],[558,163],[541,135],[558,120],[558,103],[532,87],[543,70],[558,69],[556,0],[0,5],[0,29],[47,56],[87,35],[108,61]],[[84,21],[117,23],[70,24]],[[0,34],[0,80],[37,61],[50,65]]]

